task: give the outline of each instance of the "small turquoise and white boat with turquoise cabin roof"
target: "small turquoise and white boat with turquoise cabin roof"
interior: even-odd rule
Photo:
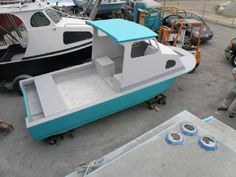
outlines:
[[[191,71],[194,56],[134,22],[87,21],[92,61],[23,80],[26,127],[42,140],[142,103]]]

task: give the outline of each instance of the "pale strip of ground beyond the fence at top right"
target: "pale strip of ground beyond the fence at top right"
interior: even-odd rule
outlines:
[[[178,7],[187,12],[195,13],[209,21],[236,27],[236,18],[224,16],[217,12],[219,4],[229,0],[160,0],[164,7]]]

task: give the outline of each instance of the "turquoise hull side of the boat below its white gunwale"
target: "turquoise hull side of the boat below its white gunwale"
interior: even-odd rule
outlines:
[[[33,138],[45,139],[142,103],[165,91],[176,78],[158,83],[118,98],[91,106],[63,117],[28,128]]]

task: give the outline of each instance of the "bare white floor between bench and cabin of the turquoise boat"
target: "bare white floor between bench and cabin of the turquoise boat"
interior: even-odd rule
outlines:
[[[95,68],[56,76],[54,79],[68,109],[94,103],[114,94]]]

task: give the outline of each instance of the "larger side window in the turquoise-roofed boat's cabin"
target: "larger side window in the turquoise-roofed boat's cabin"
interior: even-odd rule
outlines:
[[[158,48],[154,40],[139,41],[132,44],[131,58],[142,57],[157,53]]]

